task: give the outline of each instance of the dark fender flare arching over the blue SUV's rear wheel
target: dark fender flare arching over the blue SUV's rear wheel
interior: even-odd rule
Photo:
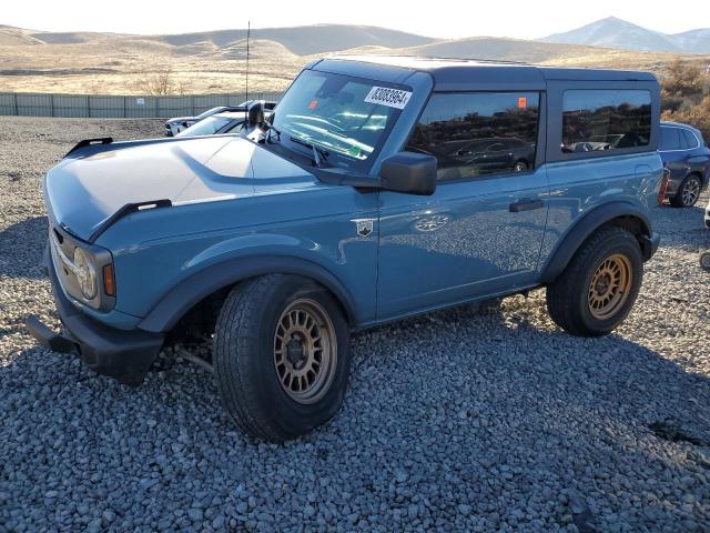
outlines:
[[[540,283],[551,283],[562,273],[579,247],[599,228],[615,219],[627,217],[640,222],[639,244],[643,260],[650,259],[658,247],[658,237],[651,232],[651,222],[641,209],[631,202],[615,201],[601,204],[579,218],[557,243],[542,268]]]

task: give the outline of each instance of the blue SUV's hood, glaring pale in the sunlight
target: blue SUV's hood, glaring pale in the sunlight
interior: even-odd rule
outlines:
[[[315,181],[245,139],[159,139],[92,144],[70,153],[48,173],[44,201],[53,223],[93,240],[126,205],[227,200],[258,188],[294,189]]]

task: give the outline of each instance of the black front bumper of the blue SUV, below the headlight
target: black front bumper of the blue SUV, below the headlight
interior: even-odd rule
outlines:
[[[65,331],[57,333],[37,316],[28,316],[26,325],[30,334],[55,352],[78,353],[89,368],[100,374],[115,378],[126,385],[139,385],[162,348],[164,335],[141,330],[116,330],[82,313],[69,301],[59,285],[53,264],[51,261],[48,263],[57,311]]]

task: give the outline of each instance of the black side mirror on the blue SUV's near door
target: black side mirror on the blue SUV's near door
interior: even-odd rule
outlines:
[[[436,190],[436,158],[416,152],[399,152],[382,162],[382,189],[428,197]]]

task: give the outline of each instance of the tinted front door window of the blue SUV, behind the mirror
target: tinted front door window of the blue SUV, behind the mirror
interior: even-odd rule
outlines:
[[[535,168],[538,92],[434,94],[407,150],[438,160],[439,180]]]

